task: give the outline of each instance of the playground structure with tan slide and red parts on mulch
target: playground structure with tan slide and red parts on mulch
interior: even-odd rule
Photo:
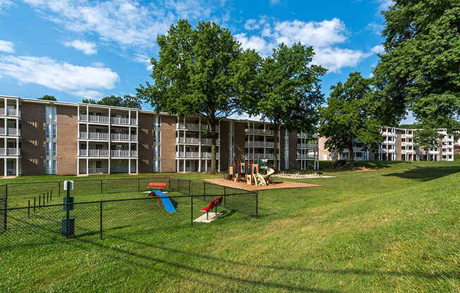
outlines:
[[[243,162],[229,164],[228,180],[234,182],[246,182],[248,185],[267,186],[272,183],[271,177],[274,175],[274,169],[268,166],[267,159],[253,157]],[[265,174],[260,173],[264,170]]]

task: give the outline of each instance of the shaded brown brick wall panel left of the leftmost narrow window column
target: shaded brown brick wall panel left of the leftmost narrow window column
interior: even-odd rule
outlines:
[[[21,104],[21,174],[44,175],[46,162],[45,106]]]

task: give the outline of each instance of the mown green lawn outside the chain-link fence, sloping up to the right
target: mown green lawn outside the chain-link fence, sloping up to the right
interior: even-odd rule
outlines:
[[[460,292],[459,161],[379,167],[259,192],[259,218],[2,250],[0,292]]]

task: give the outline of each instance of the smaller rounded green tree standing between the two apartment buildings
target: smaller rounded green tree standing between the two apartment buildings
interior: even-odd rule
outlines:
[[[372,80],[360,73],[350,73],[345,83],[331,87],[327,107],[322,109],[320,135],[328,137],[325,146],[332,152],[349,149],[351,167],[356,140],[375,150],[382,139],[371,84]]]

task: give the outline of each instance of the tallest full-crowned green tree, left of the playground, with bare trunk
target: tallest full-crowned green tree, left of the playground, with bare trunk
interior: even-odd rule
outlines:
[[[206,120],[212,138],[211,173],[216,170],[216,127],[220,120],[241,111],[247,75],[251,72],[241,44],[216,23],[187,20],[171,25],[157,38],[159,58],[151,58],[152,80],[137,89],[138,96],[157,111]],[[250,53],[250,52],[249,52]]]

